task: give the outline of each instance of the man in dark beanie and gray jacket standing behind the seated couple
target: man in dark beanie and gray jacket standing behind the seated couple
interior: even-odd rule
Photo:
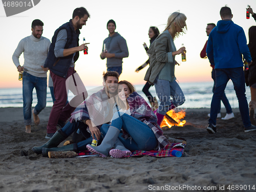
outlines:
[[[114,20],[109,20],[106,28],[109,30],[109,37],[103,41],[100,58],[106,59],[107,71],[116,71],[119,75],[122,73],[122,59],[129,56],[126,40],[117,32]]]

